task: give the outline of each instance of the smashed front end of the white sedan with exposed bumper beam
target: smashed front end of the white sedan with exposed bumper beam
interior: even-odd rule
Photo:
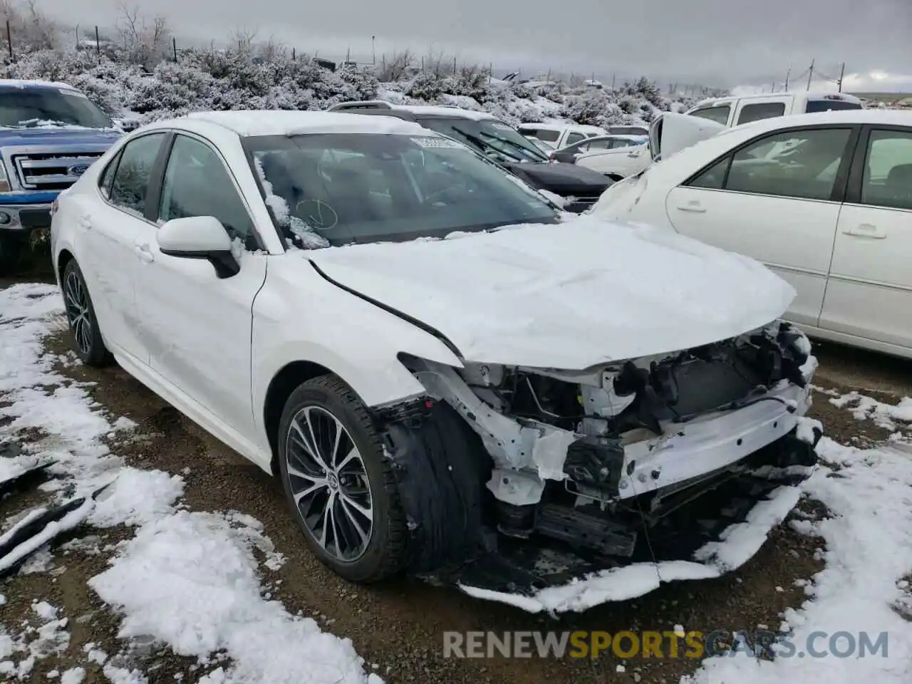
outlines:
[[[419,358],[390,407],[412,569],[528,610],[582,610],[730,571],[813,471],[816,361],[775,322],[586,372]]]

